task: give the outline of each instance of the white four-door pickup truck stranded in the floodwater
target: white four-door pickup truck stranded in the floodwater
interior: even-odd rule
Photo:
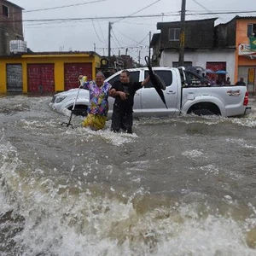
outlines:
[[[129,69],[132,81],[143,81],[148,76],[148,68]],[[154,89],[153,84],[140,90],[134,97],[134,116],[152,117],[152,116],[175,116],[180,113],[195,113],[198,115],[217,114],[224,117],[241,116],[251,112],[247,107],[248,92],[246,86],[219,85],[210,86],[205,80],[199,80],[193,75],[187,73],[183,67],[153,67],[154,73],[160,76],[166,83],[166,90],[163,90],[166,98],[165,104]],[[106,79],[108,83],[113,84],[119,79],[119,73],[114,73]],[[56,111],[63,113],[64,109],[71,110],[79,89],[72,89],[55,94],[49,105]],[[108,98],[110,117],[113,110],[112,97]],[[86,114],[89,105],[89,91],[80,89],[77,98],[74,114]]]

